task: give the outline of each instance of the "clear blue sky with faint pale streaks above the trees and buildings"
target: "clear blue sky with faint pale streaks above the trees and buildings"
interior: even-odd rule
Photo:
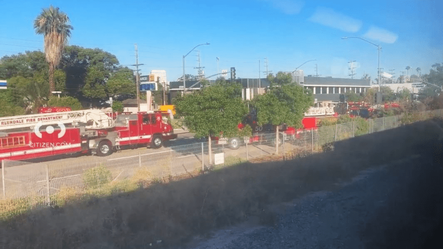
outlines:
[[[199,46],[206,76],[236,68],[238,78],[265,77],[266,70],[305,75],[355,78],[368,73],[377,78],[380,67],[406,66],[428,73],[443,62],[443,3],[411,1],[304,1],[304,0],[0,0],[0,57],[43,51],[43,37],[35,34],[33,20],[50,4],[60,7],[74,27],[69,45],[101,48],[120,64],[135,64],[138,45],[141,74],[166,70],[167,80],[183,74],[183,56]],[[197,74],[197,52],[186,57],[186,73]],[[266,59],[267,60],[266,60]],[[260,61],[260,62],[259,62]],[[259,66],[260,63],[260,66]],[[266,69],[267,65],[267,69]],[[317,68],[317,71],[316,71]],[[261,72],[261,73],[260,73]],[[406,72],[405,72],[406,74]]]

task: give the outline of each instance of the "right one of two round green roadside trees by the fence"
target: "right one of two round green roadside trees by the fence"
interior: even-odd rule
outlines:
[[[278,77],[278,76],[281,77]],[[292,83],[292,78],[285,77],[279,72],[276,77],[268,76],[271,88],[263,95],[253,99],[253,106],[257,109],[259,125],[271,124],[276,127],[276,141],[279,139],[279,125],[301,126],[305,112],[314,103],[314,97],[303,87]],[[278,153],[276,143],[276,154]]]

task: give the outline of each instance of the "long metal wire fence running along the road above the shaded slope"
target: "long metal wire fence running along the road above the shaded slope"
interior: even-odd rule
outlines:
[[[428,111],[419,119],[442,117],[443,111]],[[409,116],[408,116],[409,117]],[[322,126],[295,134],[264,133],[231,141],[212,141],[162,148],[153,153],[125,150],[107,157],[78,156],[62,160],[30,163],[3,160],[1,165],[0,217],[14,213],[5,200],[20,200],[23,207],[37,203],[61,205],[69,198],[103,196],[144,187],[148,183],[170,181],[208,168],[222,168],[269,155],[284,158],[330,149],[332,143],[354,136],[394,128],[408,117],[391,116]],[[415,117],[417,119],[417,117]],[[278,146],[278,147],[277,147]],[[136,153],[138,151],[138,154]]]

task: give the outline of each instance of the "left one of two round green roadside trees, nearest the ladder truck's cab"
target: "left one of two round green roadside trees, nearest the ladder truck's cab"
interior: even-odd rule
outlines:
[[[184,124],[195,137],[225,137],[238,135],[237,125],[248,113],[241,97],[235,95],[235,87],[214,85],[174,99],[176,112],[184,117]],[[211,152],[211,148],[209,148]],[[210,158],[212,155],[210,154]]]

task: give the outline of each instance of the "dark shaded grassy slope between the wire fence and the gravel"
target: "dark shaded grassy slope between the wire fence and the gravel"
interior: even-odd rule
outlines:
[[[169,248],[251,217],[272,225],[268,205],[333,190],[362,169],[418,153],[417,145],[438,138],[441,126],[440,121],[420,122],[337,142],[334,151],[294,152],[286,157],[294,159],[285,161],[262,158],[260,163],[158,179],[127,193],[32,210],[1,222],[0,248]],[[134,181],[149,172],[137,175]]]

